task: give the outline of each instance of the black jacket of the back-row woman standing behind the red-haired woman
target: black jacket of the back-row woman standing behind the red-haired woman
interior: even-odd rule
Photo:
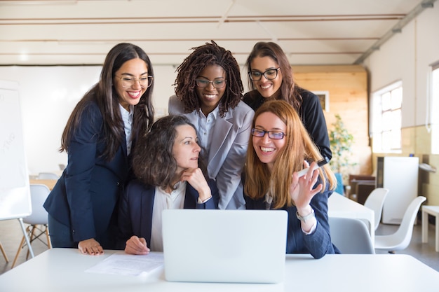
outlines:
[[[303,88],[298,89],[299,95],[302,97],[302,106],[299,109],[299,117],[302,120],[306,130],[313,139],[314,143],[320,150],[323,158],[332,158],[329,136],[327,134],[325,115],[323,114],[320,99],[313,92]],[[254,111],[268,99],[262,97],[257,90],[245,93],[243,102],[248,104]]]

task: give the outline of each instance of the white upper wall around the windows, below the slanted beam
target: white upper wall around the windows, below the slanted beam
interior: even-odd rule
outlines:
[[[430,111],[427,105],[431,103],[428,95],[430,65],[439,61],[438,32],[439,4],[418,15],[365,62],[370,71],[371,92],[394,81],[403,81],[403,127],[426,122]]]

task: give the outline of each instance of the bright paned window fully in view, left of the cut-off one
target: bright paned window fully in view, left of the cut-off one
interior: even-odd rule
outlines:
[[[400,153],[403,83],[398,81],[372,96],[372,137],[374,153]]]

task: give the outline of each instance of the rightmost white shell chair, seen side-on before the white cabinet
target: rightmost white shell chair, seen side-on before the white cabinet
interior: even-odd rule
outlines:
[[[415,197],[404,212],[403,221],[398,230],[391,235],[375,235],[375,249],[389,251],[395,253],[405,249],[412,240],[414,220],[426,197]]]

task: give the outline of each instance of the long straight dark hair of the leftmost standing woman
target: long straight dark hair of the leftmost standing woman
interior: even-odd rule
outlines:
[[[116,151],[123,141],[123,120],[119,110],[119,96],[114,88],[114,74],[121,66],[133,59],[142,59],[147,64],[148,74],[154,76],[151,61],[142,48],[131,43],[119,43],[114,46],[105,58],[100,74],[100,80],[93,85],[86,95],[76,104],[70,115],[67,125],[61,138],[60,152],[69,151],[69,144],[79,127],[81,115],[90,102],[95,102],[102,113],[103,135],[102,139],[106,145],[103,157],[109,161],[114,158]],[[154,88],[154,81],[140,97],[140,102],[134,106],[133,134],[132,141],[137,139],[139,134],[144,133],[154,122],[154,106],[151,95]]]

